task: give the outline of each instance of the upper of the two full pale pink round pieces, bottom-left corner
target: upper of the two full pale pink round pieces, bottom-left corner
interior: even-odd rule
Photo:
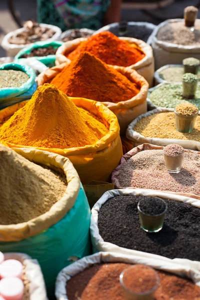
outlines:
[[[23,265],[16,259],[7,259],[0,264],[0,278],[18,277],[21,279]]]

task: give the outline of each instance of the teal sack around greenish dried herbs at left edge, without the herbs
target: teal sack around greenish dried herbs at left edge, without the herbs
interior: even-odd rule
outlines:
[[[36,75],[32,68],[17,63],[0,64],[0,70],[9,69],[23,71],[29,76],[29,79],[19,87],[0,88],[0,109],[30,99],[37,89]]]

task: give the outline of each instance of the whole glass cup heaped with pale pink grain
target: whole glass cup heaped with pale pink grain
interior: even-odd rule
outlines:
[[[169,173],[179,173],[184,156],[183,147],[177,144],[169,144],[164,147],[163,154],[167,171]]]

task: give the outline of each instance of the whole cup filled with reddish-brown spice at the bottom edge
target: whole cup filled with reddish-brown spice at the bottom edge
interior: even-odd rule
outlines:
[[[125,268],[119,276],[124,300],[153,300],[159,284],[156,271],[144,264]]]

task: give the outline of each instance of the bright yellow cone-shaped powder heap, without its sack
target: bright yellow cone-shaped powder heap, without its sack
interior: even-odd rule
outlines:
[[[0,127],[0,140],[64,149],[90,145],[107,132],[100,118],[76,107],[56,86],[45,83]]]

